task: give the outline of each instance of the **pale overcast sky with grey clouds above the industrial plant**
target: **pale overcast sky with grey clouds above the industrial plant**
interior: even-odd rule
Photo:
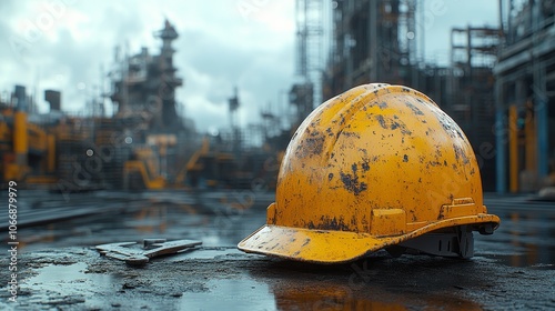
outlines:
[[[228,98],[240,90],[240,122],[259,122],[260,109],[276,109],[294,77],[294,0],[2,0],[0,1],[0,91],[14,84],[62,91],[62,109],[85,111],[98,93],[102,66],[113,64],[114,47],[129,53],[147,47],[168,18],[180,34],[174,42],[179,111],[200,131],[229,126]],[[161,4],[160,4],[161,3]],[[496,0],[426,0],[426,59],[448,60],[452,27],[496,26]],[[97,86],[97,89],[94,88]],[[280,94],[281,93],[281,94]],[[107,101],[107,106],[111,106]],[[184,108],[183,108],[184,107]]]

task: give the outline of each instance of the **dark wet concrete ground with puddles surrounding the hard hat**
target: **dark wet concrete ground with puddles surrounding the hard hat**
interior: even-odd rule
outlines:
[[[235,249],[238,241],[264,223],[272,193],[64,197],[22,191],[20,198],[18,302],[8,301],[6,287],[0,292],[1,310],[555,309],[555,203],[529,197],[486,195],[490,212],[502,218],[502,225],[493,235],[475,234],[472,260],[394,259],[377,252],[329,267]],[[44,213],[94,208],[98,213],[60,222]],[[26,218],[32,220],[27,227]],[[41,219],[47,223],[37,224]],[[7,237],[7,230],[1,230]],[[93,249],[143,238],[198,239],[203,245],[153,259],[143,268],[100,257]],[[1,244],[4,254],[7,242],[3,239]],[[2,255],[0,263],[0,280],[6,284],[9,257]]]

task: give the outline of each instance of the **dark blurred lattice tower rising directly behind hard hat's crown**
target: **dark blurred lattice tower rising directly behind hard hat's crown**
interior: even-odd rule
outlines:
[[[336,3],[324,99],[363,83],[417,84],[416,1]]]

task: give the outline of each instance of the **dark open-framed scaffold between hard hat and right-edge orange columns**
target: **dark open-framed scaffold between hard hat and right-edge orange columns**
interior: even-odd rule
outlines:
[[[495,134],[495,87],[493,67],[501,42],[500,29],[466,27],[451,30],[451,74],[443,109],[464,130],[478,159],[482,182],[494,190],[495,159],[483,150],[493,149]]]

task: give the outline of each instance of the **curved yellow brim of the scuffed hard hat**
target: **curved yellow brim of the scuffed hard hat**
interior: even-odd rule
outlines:
[[[493,223],[498,227],[500,218],[480,213],[440,220],[407,234],[374,237],[369,233],[349,231],[314,230],[265,224],[242,240],[238,248],[249,253],[260,253],[284,259],[314,263],[342,263],[356,260],[367,253],[398,244],[427,232],[463,224]]]

